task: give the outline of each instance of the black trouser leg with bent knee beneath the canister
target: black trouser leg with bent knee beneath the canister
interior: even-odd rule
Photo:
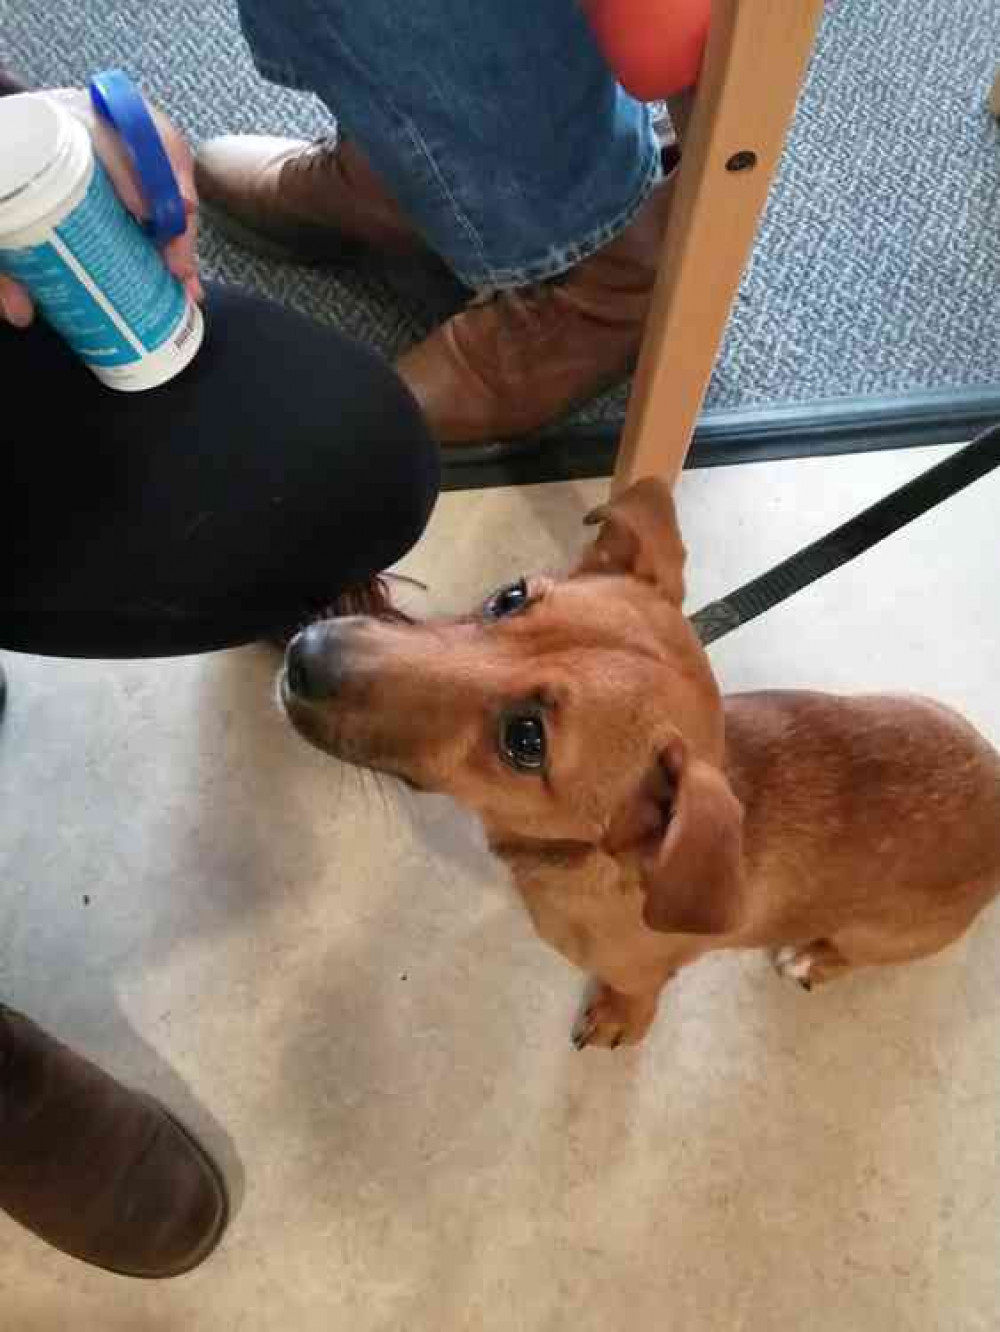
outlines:
[[[399,559],[438,454],[395,373],[212,288],[172,384],[101,386],[51,330],[0,328],[0,647],[152,657],[280,633]]]

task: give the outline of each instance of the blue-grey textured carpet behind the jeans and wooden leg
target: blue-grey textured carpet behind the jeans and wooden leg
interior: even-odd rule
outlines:
[[[40,84],[123,65],[193,139],[329,125],[256,76],[232,0],[0,0],[4,60]],[[997,63],[1000,0],[828,0],[710,405],[1000,381],[1000,132],[985,111]],[[389,354],[451,298],[268,262],[210,229],[202,256],[209,274]],[[609,394],[587,414],[621,404]]]

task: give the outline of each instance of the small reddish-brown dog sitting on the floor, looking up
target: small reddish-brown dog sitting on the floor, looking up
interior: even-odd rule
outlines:
[[[811,988],[957,939],[1000,890],[1000,755],[916,698],[720,697],[668,490],[587,522],[566,581],[304,630],[280,685],[296,727],[478,814],[538,934],[599,982],[579,1047],[642,1040],[715,948],[771,948]]]

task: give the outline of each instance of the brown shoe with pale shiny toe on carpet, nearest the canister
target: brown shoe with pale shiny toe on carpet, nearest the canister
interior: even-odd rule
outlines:
[[[426,250],[365,156],[345,140],[224,135],[201,144],[194,178],[222,230],[278,258],[317,264],[361,246]]]

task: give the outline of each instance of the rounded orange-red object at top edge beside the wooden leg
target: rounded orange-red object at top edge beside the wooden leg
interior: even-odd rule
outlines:
[[[582,0],[605,59],[642,101],[698,83],[711,0]]]

